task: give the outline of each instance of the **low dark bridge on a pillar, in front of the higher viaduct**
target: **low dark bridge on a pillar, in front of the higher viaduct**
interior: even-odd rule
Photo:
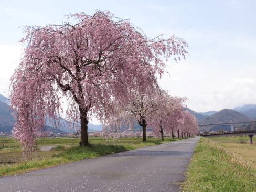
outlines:
[[[252,137],[256,135],[256,130],[250,131],[232,131],[232,132],[224,132],[224,133],[207,133],[200,134],[203,137],[229,137],[229,136],[244,136],[248,135],[250,138],[250,144],[252,144]]]

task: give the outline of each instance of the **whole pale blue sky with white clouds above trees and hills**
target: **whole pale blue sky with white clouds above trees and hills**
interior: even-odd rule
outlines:
[[[8,96],[10,77],[18,66],[22,26],[61,24],[65,15],[109,10],[130,19],[154,38],[175,34],[188,42],[189,56],[169,59],[159,80],[171,96],[187,97],[196,112],[256,104],[256,1],[25,1],[0,0],[0,94]]]

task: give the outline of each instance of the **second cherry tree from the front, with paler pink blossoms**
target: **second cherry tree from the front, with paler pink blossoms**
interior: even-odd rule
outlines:
[[[134,82],[136,83],[136,82]],[[159,110],[159,97],[163,91],[157,82],[145,82],[143,91],[136,86],[126,89],[126,100],[113,100],[113,112],[105,120],[108,129],[117,131],[122,127],[131,129],[135,123],[142,128],[143,141],[146,141],[147,121]]]

